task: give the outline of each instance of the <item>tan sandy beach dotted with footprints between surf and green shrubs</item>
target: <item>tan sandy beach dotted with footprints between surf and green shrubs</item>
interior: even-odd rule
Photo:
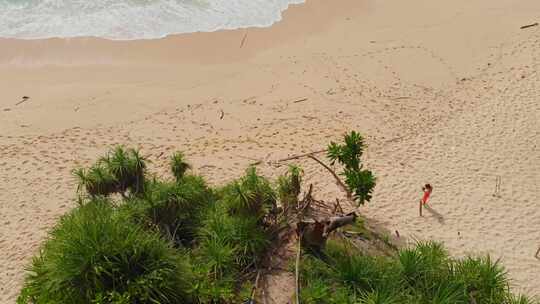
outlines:
[[[140,147],[161,175],[185,151],[219,184],[253,163],[276,176],[275,161],[350,130],[378,177],[362,214],[411,242],[500,258],[516,291],[540,295],[540,26],[520,29],[535,22],[537,0],[308,0],[269,28],[0,39],[0,302],[15,303],[75,206],[71,170],[113,145]],[[298,164],[317,197],[342,195]]]

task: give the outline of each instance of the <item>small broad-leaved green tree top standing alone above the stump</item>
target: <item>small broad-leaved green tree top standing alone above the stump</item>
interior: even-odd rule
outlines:
[[[361,161],[364,152],[364,138],[360,133],[352,131],[344,136],[345,143],[331,142],[328,145],[328,158],[332,162],[339,162],[344,170],[341,175],[345,176],[345,184],[353,193],[354,200],[363,205],[371,200],[373,188],[375,188],[375,176],[370,170],[364,169]]]

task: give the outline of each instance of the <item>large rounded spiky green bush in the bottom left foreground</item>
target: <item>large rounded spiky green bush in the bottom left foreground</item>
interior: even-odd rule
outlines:
[[[29,270],[19,303],[191,302],[182,256],[105,200],[65,215]]]

